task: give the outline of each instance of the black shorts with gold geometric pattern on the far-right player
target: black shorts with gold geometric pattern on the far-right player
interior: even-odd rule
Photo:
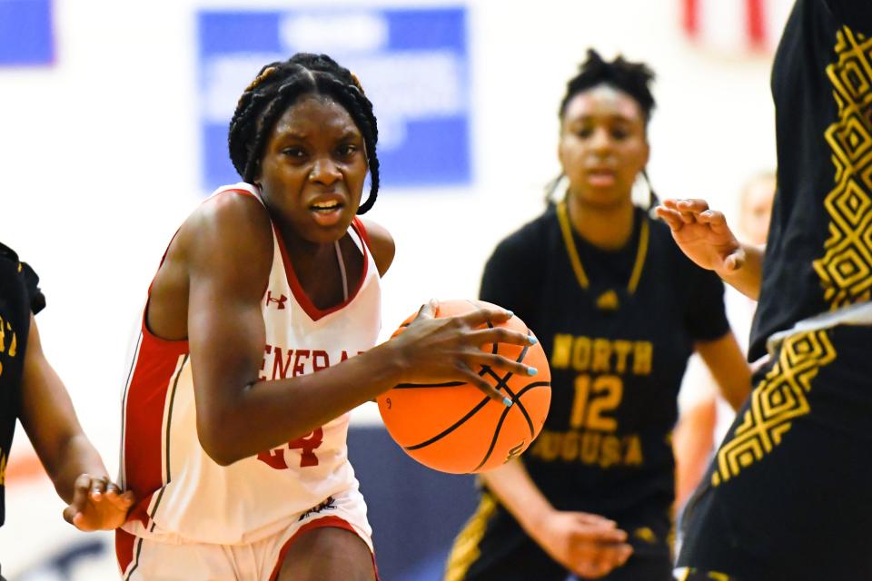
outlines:
[[[685,508],[678,565],[872,579],[872,329],[794,336],[757,377]]]

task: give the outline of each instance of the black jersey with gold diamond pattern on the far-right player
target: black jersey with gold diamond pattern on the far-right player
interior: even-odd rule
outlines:
[[[752,360],[772,333],[872,297],[872,2],[798,0],[772,96],[778,192]]]

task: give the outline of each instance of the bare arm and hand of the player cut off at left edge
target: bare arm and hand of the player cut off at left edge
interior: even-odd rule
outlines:
[[[33,315],[21,387],[22,426],[57,494],[68,503],[66,521],[82,530],[120,527],[133,505],[133,493],[121,494],[84,435],[64,383],[45,358]]]

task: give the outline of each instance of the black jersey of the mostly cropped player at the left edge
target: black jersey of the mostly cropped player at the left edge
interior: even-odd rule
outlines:
[[[0,243],[0,525],[5,520],[5,471],[21,406],[30,313],[45,307],[39,277],[18,261],[15,251]]]

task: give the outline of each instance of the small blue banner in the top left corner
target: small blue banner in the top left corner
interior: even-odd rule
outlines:
[[[51,0],[0,0],[0,66],[53,62]]]

